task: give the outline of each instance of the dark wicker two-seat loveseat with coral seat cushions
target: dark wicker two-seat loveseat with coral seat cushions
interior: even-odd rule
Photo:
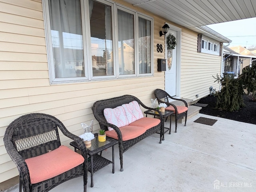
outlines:
[[[123,153],[127,149],[129,149],[130,147],[132,147],[133,145],[135,145],[136,143],[138,143],[142,139],[144,139],[144,138],[146,138],[146,137],[148,137],[148,136],[150,136],[154,133],[157,133],[157,132],[161,133],[160,134],[160,143],[161,143],[161,140],[162,140],[162,127],[163,126],[162,126],[162,121],[160,121],[160,120],[162,120],[162,114],[160,112],[159,112],[160,120],[158,120],[157,125],[155,125],[153,127],[147,127],[148,123],[147,123],[146,120],[152,121],[152,119],[154,119],[154,118],[144,119],[145,118],[144,117],[144,118],[142,118],[143,123],[142,123],[142,121],[141,122],[137,121],[138,123],[137,123],[136,126],[138,126],[138,124],[140,123],[141,126],[147,127],[147,129],[146,129],[146,131],[144,131],[144,133],[136,136],[136,138],[129,139],[129,140],[123,139],[124,134],[122,135],[122,133],[125,132],[125,131],[123,131],[124,129],[122,129],[122,128],[126,128],[126,127],[118,128],[116,125],[108,123],[108,121],[106,120],[106,118],[104,116],[104,109],[106,109],[106,108],[114,109],[114,108],[117,108],[119,106],[122,106],[123,104],[129,104],[130,102],[133,102],[133,101],[138,102],[138,104],[140,105],[140,108],[144,108],[144,109],[147,109],[147,110],[155,110],[155,111],[159,112],[156,109],[149,108],[149,107],[145,106],[138,98],[136,98],[135,96],[132,96],[132,95],[124,95],[124,96],[119,96],[119,97],[110,98],[110,99],[106,99],[106,100],[99,100],[99,101],[96,101],[94,103],[94,105],[92,106],[92,112],[94,114],[95,119],[99,122],[100,128],[104,129],[104,130],[106,130],[106,132],[108,132],[108,130],[109,130],[108,127],[111,127],[112,129],[114,129],[114,130],[112,130],[112,132],[115,131],[115,133],[117,134],[116,138],[114,138],[114,137],[112,137],[112,138],[118,139],[120,165],[121,165],[120,171],[123,171]],[[154,119],[154,121],[155,120],[156,119]],[[136,121],[135,121],[135,123],[136,123]],[[133,126],[132,128],[134,128],[136,126]],[[130,128],[130,127],[128,127],[128,128]],[[136,129],[133,129],[133,130],[136,132]],[[111,134],[109,134],[109,135],[107,134],[107,136],[110,136],[110,135]]]

